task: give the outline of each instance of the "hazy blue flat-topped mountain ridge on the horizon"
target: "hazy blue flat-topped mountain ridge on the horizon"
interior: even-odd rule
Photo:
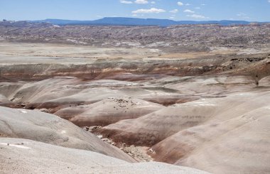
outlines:
[[[63,20],[63,19],[45,19],[40,21],[31,22],[47,22],[59,26],[67,25],[83,25],[83,26],[173,26],[173,25],[185,25],[185,24],[220,24],[222,26],[229,25],[247,25],[252,22],[249,21],[173,21],[169,19],[158,18],[123,18],[123,17],[106,17],[97,19],[94,21],[77,21],[77,20]]]

